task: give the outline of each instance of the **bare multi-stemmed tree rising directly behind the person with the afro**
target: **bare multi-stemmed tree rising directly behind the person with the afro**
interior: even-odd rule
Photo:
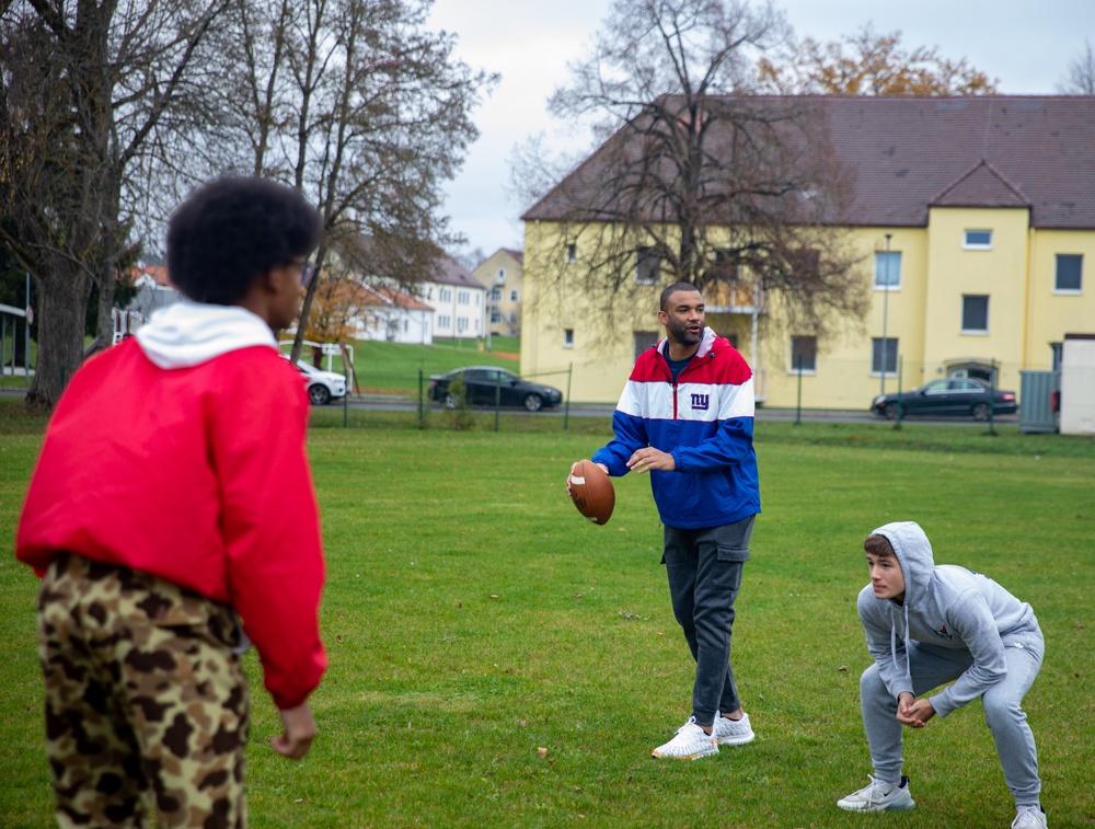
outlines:
[[[220,101],[256,174],[319,205],[324,237],[313,267],[338,250],[359,273],[420,279],[459,240],[439,215],[440,187],[479,135],[471,111],[492,76],[452,57],[453,38],[426,30],[428,2],[237,0],[234,80]],[[231,133],[230,133],[231,134]],[[367,237],[368,244],[344,243]],[[345,264],[345,263],[344,263]],[[320,279],[309,285],[299,354]]]

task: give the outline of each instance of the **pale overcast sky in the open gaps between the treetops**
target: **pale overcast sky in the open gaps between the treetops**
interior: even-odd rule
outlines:
[[[512,148],[545,134],[549,147],[575,146],[545,112],[545,101],[568,81],[566,65],[588,54],[611,0],[436,0],[434,30],[458,36],[457,57],[498,72],[500,82],[473,118],[480,138],[447,192],[452,230],[468,238],[465,251],[489,256],[522,247],[521,205],[509,194]],[[822,43],[872,23],[876,33],[900,31],[906,50],[937,47],[998,81],[1001,93],[1052,94],[1068,64],[1095,45],[1095,0],[783,0],[795,34]],[[883,8],[889,7],[889,8]],[[1095,129],[1095,125],[1093,125]],[[583,137],[583,146],[588,139]]]

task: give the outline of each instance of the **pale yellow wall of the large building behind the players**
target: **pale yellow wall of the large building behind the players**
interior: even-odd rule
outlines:
[[[966,230],[991,230],[989,250],[967,250]],[[1049,343],[1067,331],[1095,331],[1095,231],[1031,230],[1026,209],[934,208],[927,227],[846,229],[860,254],[869,310],[862,321],[818,346],[817,368],[804,372],[802,405],[807,408],[865,411],[881,392],[908,390],[943,377],[948,364],[963,358],[995,360],[998,384],[1021,391],[1019,371],[1051,368]],[[889,291],[874,285],[875,253],[901,254],[900,285]],[[550,222],[526,230],[521,371],[542,376],[573,366],[570,399],[614,402],[634,361],[633,332],[662,330],[657,322],[660,286],[633,289],[613,304],[612,319],[590,311],[584,289],[583,245],[577,262],[561,272],[558,231]],[[538,253],[540,258],[538,258]],[[1083,289],[1054,292],[1058,253],[1083,256]],[[963,331],[963,297],[989,298],[984,333]],[[708,298],[711,304],[711,298]],[[779,302],[768,312],[777,321]],[[736,334],[738,349],[757,373],[759,400],[771,407],[795,406],[799,376],[791,365],[791,336],[762,320],[757,342],[747,315],[708,313],[708,325]],[[898,372],[872,371],[872,339],[898,341]],[[566,331],[573,345],[565,345]],[[557,383],[556,383],[557,384]]]

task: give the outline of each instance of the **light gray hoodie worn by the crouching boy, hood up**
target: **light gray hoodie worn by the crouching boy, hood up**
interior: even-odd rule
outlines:
[[[867,649],[895,699],[912,693],[909,642],[965,650],[973,664],[955,681],[929,698],[940,716],[984,693],[1006,672],[1005,647],[1023,647],[1041,636],[1034,610],[991,578],[950,564],[936,566],[927,536],[914,521],[897,521],[872,534],[885,536],[904,576],[904,601],[876,599],[871,585],[856,601],[867,634]]]

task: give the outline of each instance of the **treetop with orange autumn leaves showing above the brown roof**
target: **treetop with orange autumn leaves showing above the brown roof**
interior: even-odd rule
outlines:
[[[901,33],[875,34],[871,24],[841,41],[812,37],[784,49],[782,60],[758,61],[762,91],[822,95],[988,95],[995,81],[965,58],[924,46],[907,51]]]

